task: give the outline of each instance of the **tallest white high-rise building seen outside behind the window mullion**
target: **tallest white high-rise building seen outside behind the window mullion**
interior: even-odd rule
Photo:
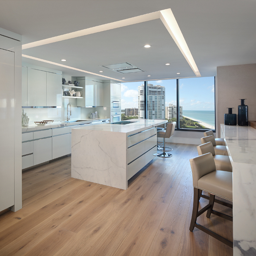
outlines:
[[[148,119],[165,119],[165,87],[147,84]],[[144,85],[138,86],[138,116],[144,118]]]

